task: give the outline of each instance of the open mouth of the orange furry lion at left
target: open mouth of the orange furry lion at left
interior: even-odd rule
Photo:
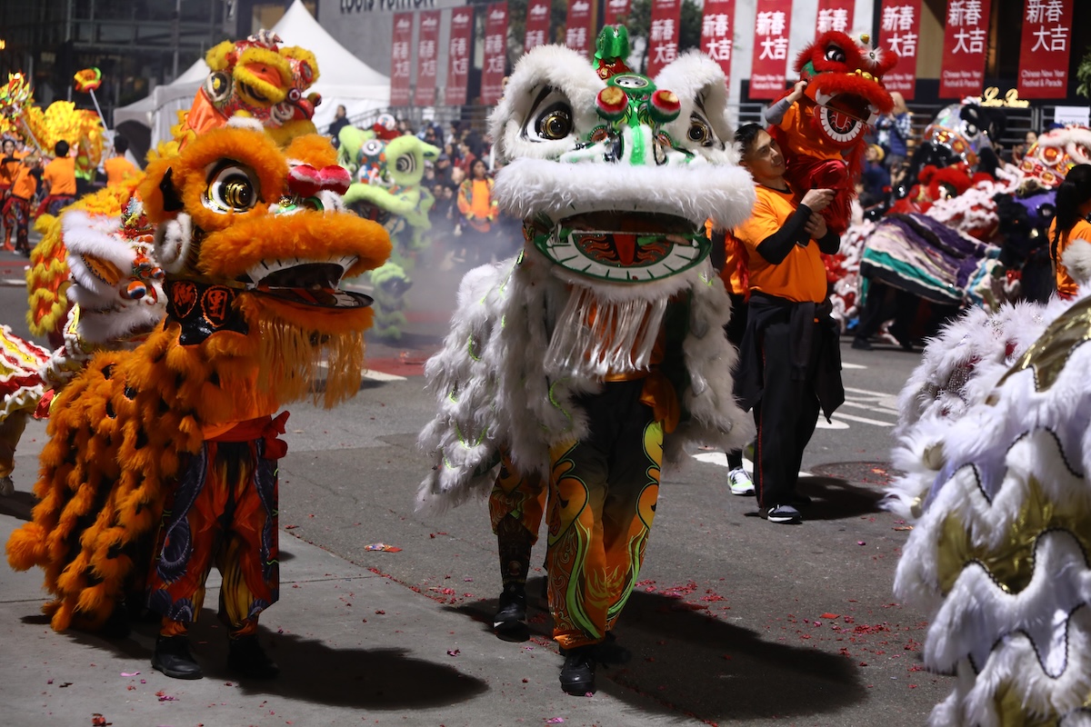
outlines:
[[[371,304],[371,298],[338,289],[345,272],[358,259],[355,255],[325,260],[263,259],[238,280],[249,292],[289,303],[326,308],[364,307]]]

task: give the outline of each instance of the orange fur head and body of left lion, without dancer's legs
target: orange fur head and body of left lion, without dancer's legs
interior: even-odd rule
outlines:
[[[371,313],[336,284],[381,265],[391,245],[336,192],[293,191],[291,165],[332,169],[334,157],[323,137],[281,152],[260,130],[227,128],[148,166],[139,192],[167,270],[168,317],[134,351],[96,356],[60,393],[40,501],[8,542],[13,568],[45,569],[55,629],[110,615],[182,453],[307,397],[320,356],[327,407],[359,388]]]

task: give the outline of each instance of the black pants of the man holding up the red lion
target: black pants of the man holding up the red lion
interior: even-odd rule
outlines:
[[[760,401],[754,404],[754,485],[763,508],[789,505],[803,464],[803,450],[818,422],[815,371],[822,346],[811,347],[806,375],[800,379],[792,378],[791,351],[789,322],[769,324],[762,336],[765,384]]]

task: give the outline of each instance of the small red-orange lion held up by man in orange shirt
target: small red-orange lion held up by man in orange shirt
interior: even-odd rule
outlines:
[[[796,58],[801,83],[766,111],[769,134],[784,152],[792,190],[836,192],[824,215],[838,234],[849,229],[867,148],[864,133],[894,108],[883,75],[898,60],[890,50],[858,45],[844,33],[829,31]]]

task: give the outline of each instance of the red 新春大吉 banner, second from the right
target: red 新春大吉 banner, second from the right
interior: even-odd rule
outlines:
[[[991,0],[947,0],[939,97],[980,96],[985,87]]]

